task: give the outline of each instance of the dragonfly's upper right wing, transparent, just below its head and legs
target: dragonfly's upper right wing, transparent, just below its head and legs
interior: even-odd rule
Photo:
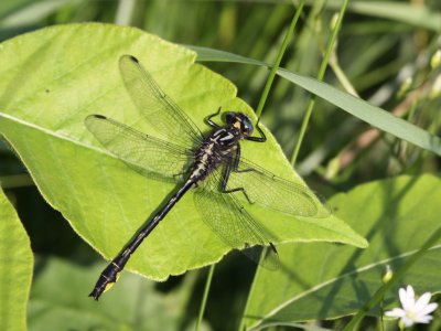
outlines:
[[[279,178],[244,158],[240,158],[238,169],[239,172],[230,172],[227,190],[244,188],[251,203],[293,216],[327,217],[331,214],[305,185]]]

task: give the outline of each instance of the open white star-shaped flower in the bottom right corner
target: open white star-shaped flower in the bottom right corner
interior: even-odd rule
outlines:
[[[430,313],[438,308],[438,305],[429,303],[432,297],[430,292],[423,293],[416,300],[413,288],[408,285],[407,289],[399,289],[399,297],[402,309],[394,308],[390,311],[386,311],[385,314],[387,317],[401,319],[406,328],[415,323],[429,323],[432,320]]]

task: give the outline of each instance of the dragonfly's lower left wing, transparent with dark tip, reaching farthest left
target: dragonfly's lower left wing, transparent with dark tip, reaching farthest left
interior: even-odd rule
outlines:
[[[192,151],[137,131],[103,115],[85,119],[87,129],[111,153],[146,177],[181,181]]]

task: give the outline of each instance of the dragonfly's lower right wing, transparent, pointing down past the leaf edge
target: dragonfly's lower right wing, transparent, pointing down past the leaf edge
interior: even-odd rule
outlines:
[[[214,173],[195,190],[194,201],[203,221],[229,247],[243,249],[250,259],[268,269],[278,268],[279,258],[271,244],[276,237],[254,220],[233,194],[214,190],[218,183],[218,175]],[[258,248],[265,246],[271,247],[265,259],[260,259]]]

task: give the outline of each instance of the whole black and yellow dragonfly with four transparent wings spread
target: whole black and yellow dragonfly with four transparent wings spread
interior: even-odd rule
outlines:
[[[154,180],[175,182],[176,190],[104,269],[89,297],[98,300],[117,281],[130,256],[190,190],[194,191],[201,218],[225,244],[243,252],[255,252],[248,249],[251,244],[268,247],[268,266],[278,261],[273,245],[277,238],[246,211],[238,194],[246,203],[259,203],[292,216],[323,216],[320,200],[306,186],[277,177],[240,156],[241,141],[267,141],[259,120],[254,135],[255,126],[247,115],[220,114],[218,108],[205,118],[209,132],[204,135],[138,58],[122,55],[119,68],[128,94],[143,120],[154,128],[154,135],[104,115],[89,115],[85,126],[128,167]],[[258,261],[255,253],[246,255]]]

